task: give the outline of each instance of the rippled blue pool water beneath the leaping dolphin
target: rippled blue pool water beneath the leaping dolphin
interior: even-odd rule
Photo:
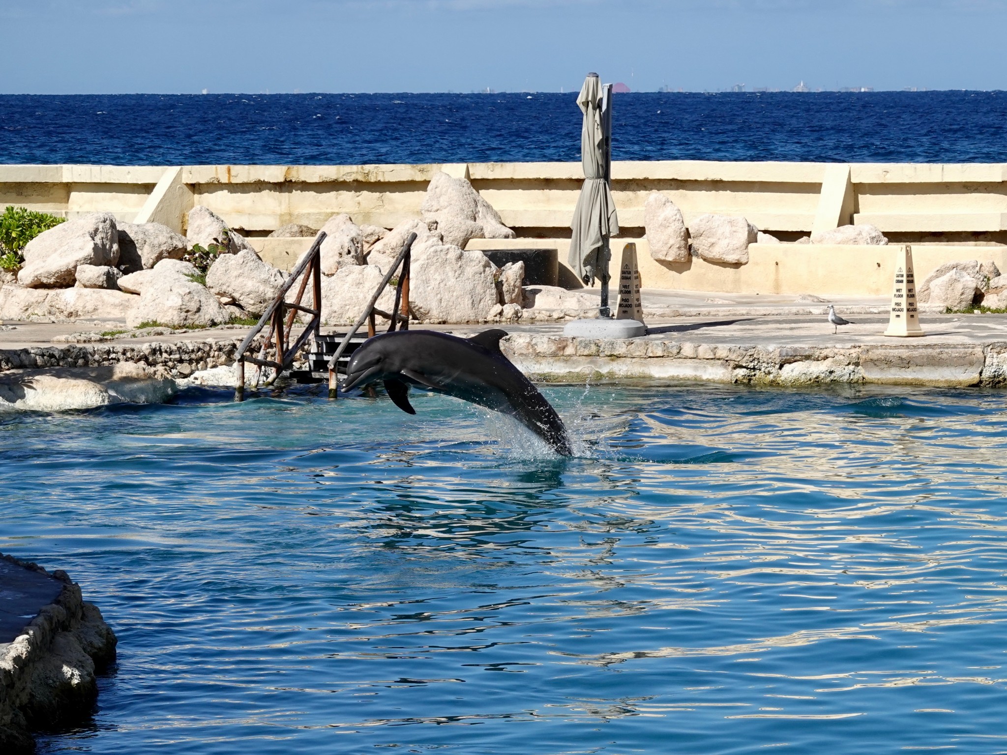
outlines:
[[[546,389],[0,417],[120,638],[42,753],[1007,751],[1007,395]]]

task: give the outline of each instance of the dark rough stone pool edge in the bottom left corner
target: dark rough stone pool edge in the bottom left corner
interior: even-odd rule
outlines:
[[[115,662],[118,640],[64,571],[49,574],[32,562],[4,554],[0,559],[62,583],[55,600],[41,606],[12,642],[0,643],[0,752],[21,755],[34,751],[33,732],[91,713],[96,674]]]

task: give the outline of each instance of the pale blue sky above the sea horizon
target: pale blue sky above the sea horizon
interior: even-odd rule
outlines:
[[[0,92],[1007,89],[1007,0],[0,0]]]

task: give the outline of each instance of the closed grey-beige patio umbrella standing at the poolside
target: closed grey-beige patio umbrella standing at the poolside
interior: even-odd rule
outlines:
[[[615,202],[608,187],[612,165],[612,117],[610,84],[602,87],[597,73],[588,73],[577,98],[584,114],[580,132],[581,164],[584,185],[577,199],[577,208],[570,224],[568,262],[585,284],[601,281],[601,315],[609,316],[608,262],[611,253],[608,240],[619,233]]]

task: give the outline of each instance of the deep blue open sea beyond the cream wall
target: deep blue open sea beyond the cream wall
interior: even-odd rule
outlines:
[[[627,94],[616,160],[1007,162],[1007,93]],[[573,94],[0,96],[0,163],[577,161]]]

